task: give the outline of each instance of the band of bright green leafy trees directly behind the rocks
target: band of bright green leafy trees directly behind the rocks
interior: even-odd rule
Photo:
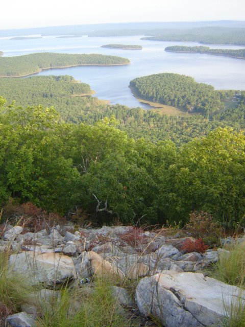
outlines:
[[[243,218],[243,132],[217,128],[177,148],[130,138],[114,116],[67,124],[52,107],[6,106],[3,98],[0,106],[1,206],[11,197],[61,214],[79,207],[100,223],[180,222],[193,210],[226,227]],[[96,199],[108,211],[97,211]]]

